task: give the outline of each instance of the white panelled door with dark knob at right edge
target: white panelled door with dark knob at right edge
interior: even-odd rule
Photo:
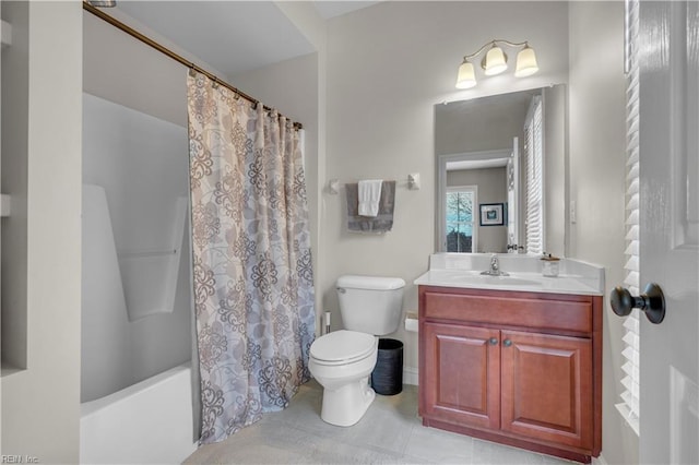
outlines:
[[[699,463],[699,2],[640,2],[640,461]]]

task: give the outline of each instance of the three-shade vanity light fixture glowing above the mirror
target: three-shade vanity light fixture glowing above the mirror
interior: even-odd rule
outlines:
[[[476,73],[471,60],[478,57],[488,47],[490,48],[481,60],[481,68],[483,68],[485,75],[493,76],[507,70],[507,55],[498,44],[521,48],[517,53],[516,78],[530,76],[538,71],[536,55],[534,49],[529,46],[529,43],[516,44],[509,40],[494,39],[481,47],[475,53],[463,57],[463,63],[459,67],[459,75],[457,76],[457,88],[470,88],[476,85]]]

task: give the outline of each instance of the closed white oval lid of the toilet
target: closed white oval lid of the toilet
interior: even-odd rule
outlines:
[[[310,356],[325,363],[362,360],[376,347],[371,334],[340,330],[317,338],[310,346]]]

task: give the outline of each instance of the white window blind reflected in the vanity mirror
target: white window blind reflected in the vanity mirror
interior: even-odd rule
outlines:
[[[524,122],[526,165],[526,252],[544,253],[544,124],[542,98],[535,96]]]

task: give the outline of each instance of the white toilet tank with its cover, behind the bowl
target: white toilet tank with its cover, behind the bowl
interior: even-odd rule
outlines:
[[[400,277],[341,276],[336,283],[345,330],[382,336],[401,323],[403,288]]]

